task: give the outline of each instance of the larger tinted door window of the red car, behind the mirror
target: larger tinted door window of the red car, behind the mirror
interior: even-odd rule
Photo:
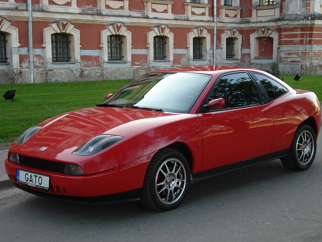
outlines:
[[[260,103],[256,84],[247,73],[222,76],[215,83],[210,99],[224,98],[224,108],[253,106]]]

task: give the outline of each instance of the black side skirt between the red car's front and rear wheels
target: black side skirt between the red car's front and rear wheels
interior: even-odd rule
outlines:
[[[249,166],[253,166],[253,165],[257,165],[260,163],[280,159],[280,158],[285,157],[287,155],[288,151],[289,151],[289,149],[280,150],[280,151],[277,151],[274,153],[262,155],[262,156],[252,158],[249,160],[239,161],[239,162],[229,164],[226,166],[221,166],[221,167],[216,167],[216,168],[206,170],[206,171],[196,172],[196,173],[192,174],[191,183],[195,183],[195,182],[198,182],[198,181],[201,181],[204,179],[208,179],[210,177],[219,176],[219,175],[231,172],[231,171],[236,171],[236,170],[246,168]]]

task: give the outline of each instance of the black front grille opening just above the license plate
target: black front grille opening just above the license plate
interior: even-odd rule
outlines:
[[[44,171],[53,171],[58,173],[64,173],[65,171],[65,163],[37,159],[24,155],[19,155],[19,164]]]

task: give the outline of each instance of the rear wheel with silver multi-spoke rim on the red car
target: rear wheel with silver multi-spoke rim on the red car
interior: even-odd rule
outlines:
[[[288,155],[282,158],[282,164],[289,170],[307,170],[316,154],[316,135],[309,125],[301,125],[296,131]]]

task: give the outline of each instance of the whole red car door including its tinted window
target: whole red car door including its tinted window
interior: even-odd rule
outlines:
[[[272,114],[248,73],[219,77],[207,101],[216,98],[225,99],[223,108],[198,114],[203,136],[203,170],[269,153]]]

